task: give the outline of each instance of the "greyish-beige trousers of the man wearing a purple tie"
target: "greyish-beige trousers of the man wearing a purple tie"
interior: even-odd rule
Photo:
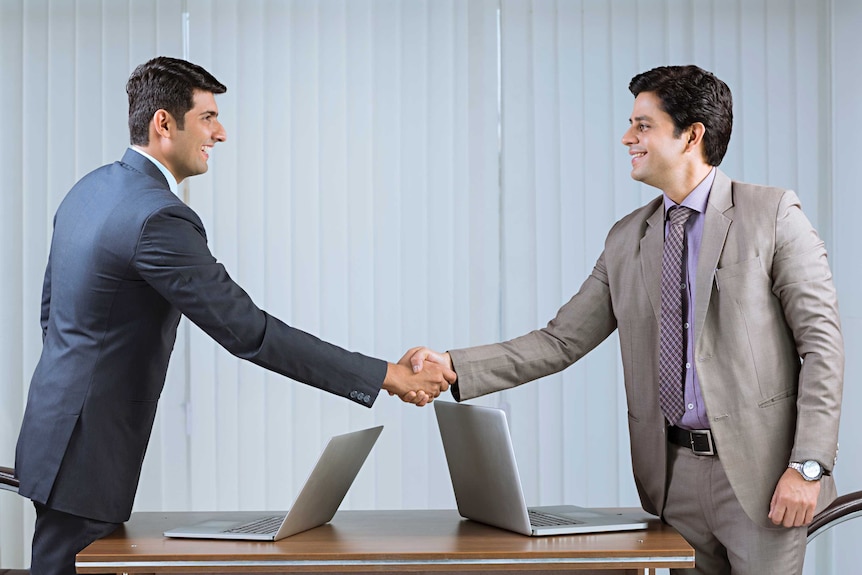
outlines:
[[[718,456],[668,445],[664,519],[694,547],[695,567],[674,575],[793,575],[802,573],[805,527],[756,525],[739,505]],[[764,509],[766,515],[768,509]]]

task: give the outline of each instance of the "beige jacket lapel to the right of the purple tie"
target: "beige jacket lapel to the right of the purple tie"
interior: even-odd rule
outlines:
[[[697,337],[703,333],[706,321],[706,310],[709,309],[709,298],[712,295],[712,284],[715,281],[715,268],[718,258],[724,249],[727,230],[733,221],[728,210],[733,207],[731,181],[724,172],[716,170],[715,181],[709,192],[709,202],[706,205],[703,223],[703,238],[700,244],[700,254],[697,260],[697,293],[694,294],[694,329]]]

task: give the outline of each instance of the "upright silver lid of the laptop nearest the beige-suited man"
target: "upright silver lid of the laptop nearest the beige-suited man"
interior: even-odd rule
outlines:
[[[440,400],[434,409],[461,516],[530,535],[505,412]]]

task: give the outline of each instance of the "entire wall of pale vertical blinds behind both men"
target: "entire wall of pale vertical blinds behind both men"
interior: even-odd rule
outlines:
[[[0,0],[0,106],[13,111],[0,140],[0,464],[14,460],[40,352],[54,210],[123,153],[125,81],[159,54],[228,86],[217,98],[227,142],[182,187],[216,257],[270,313],[390,361],[553,317],[612,223],[657,194],[631,181],[620,144],[629,79],[710,69],[735,97],[722,169],[796,189],[827,240],[852,382],[860,11],[853,0]],[[561,374],[477,400],[508,411],[531,504],[638,504],[618,357],[612,337]],[[848,385],[842,491],[862,481],[860,402]],[[184,321],[135,509],[286,508],[331,435],[377,424],[344,508],[454,507],[431,409],[385,394],[362,409],[241,362]],[[0,494],[0,565],[28,562],[32,520]],[[857,564],[853,529],[818,539],[806,570]]]

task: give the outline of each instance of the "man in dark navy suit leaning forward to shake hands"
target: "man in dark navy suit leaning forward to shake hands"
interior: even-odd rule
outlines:
[[[43,349],[15,466],[33,500],[31,572],[75,572],[75,554],[131,514],[177,325],[185,315],[237,357],[370,407],[380,389],[424,405],[454,373],[351,353],[259,309],[210,254],[176,196],[226,138],[200,66],[159,57],[129,78],[132,147],[82,178],[54,219]]]

